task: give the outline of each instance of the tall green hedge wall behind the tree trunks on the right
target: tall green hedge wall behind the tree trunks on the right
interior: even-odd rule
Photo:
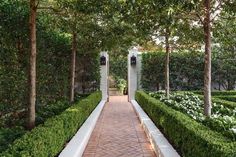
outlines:
[[[213,54],[216,52],[212,52]],[[142,53],[142,87],[148,91],[164,89],[165,52]],[[212,83],[233,90],[236,82],[235,61],[212,57]],[[224,56],[227,58],[227,56]],[[170,54],[170,87],[172,90],[203,88],[204,53],[173,52]]]

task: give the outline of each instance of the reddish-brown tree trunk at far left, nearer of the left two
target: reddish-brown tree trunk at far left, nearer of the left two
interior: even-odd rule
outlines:
[[[29,117],[28,129],[35,127],[35,101],[36,101],[36,0],[30,0],[30,67],[29,67]]]

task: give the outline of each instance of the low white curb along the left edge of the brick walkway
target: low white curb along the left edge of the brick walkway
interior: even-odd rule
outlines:
[[[106,101],[102,100],[60,153],[59,157],[81,157]]]

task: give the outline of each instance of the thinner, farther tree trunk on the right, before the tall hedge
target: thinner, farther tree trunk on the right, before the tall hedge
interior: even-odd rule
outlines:
[[[165,42],[166,42],[166,65],[165,65],[165,92],[166,97],[169,99],[170,97],[170,70],[169,70],[169,64],[170,64],[170,44],[169,44],[169,30],[166,30],[165,35]]]

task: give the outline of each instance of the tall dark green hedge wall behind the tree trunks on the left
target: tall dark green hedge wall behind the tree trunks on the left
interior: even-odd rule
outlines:
[[[53,18],[47,12],[37,14],[37,105],[51,104],[68,98],[69,94],[71,37],[60,28],[52,27]],[[5,114],[27,109],[29,2],[1,0],[0,19],[1,115],[2,111]],[[87,36],[84,41],[86,43],[78,38],[76,82],[82,82],[79,87],[84,91],[93,92],[99,87],[99,53]]]

